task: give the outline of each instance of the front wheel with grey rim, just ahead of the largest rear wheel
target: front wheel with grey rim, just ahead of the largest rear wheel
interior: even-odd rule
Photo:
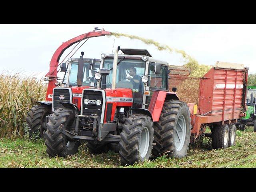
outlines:
[[[122,125],[119,142],[122,165],[144,162],[151,156],[153,148],[153,122],[144,114],[133,114]]]

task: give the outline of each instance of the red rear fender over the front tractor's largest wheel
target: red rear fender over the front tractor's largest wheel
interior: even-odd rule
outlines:
[[[179,100],[175,92],[166,92],[166,91],[154,92],[152,99],[150,101],[150,106],[148,107],[150,113],[152,114],[153,122],[159,121],[162,108],[164,106],[164,101],[170,100],[170,99]]]

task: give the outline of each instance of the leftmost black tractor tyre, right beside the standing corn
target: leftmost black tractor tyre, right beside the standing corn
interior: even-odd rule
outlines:
[[[51,108],[45,105],[34,105],[30,108],[26,118],[28,125],[28,135],[31,138],[36,132],[40,132],[40,137],[44,137],[46,131],[45,117],[51,113]]]

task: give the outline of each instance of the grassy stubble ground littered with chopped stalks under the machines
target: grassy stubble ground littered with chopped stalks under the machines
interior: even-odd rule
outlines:
[[[208,129],[207,129],[208,131]],[[252,168],[256,167],[256,132],[253,128],[237,131],[236,145],[226,149],[212,150],[208,138],[203,138],[195,146],[190,146],[185,158],[158,157],[144,163],[136,163],[126,168]],[[79,152],[67,158],[50,158],[42,139],[0,139],[0,167],[20,168],[119,168],[117,153],[93,155],[85,144]]]

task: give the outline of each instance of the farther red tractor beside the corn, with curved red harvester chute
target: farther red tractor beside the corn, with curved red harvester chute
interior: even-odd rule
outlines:
[[[106,32],[104,29],[98,31],[98,28],[95,28],[94,31],[82,34],[67,42],[64,42],[52,56],[50,61],[50,71],[46,74],[45,80],[48,81],[48,88],[46,94],[46,101],[38,101],[37,105],[32,106],[28,112],[26,118],[26,123],[28,125],[28,133],[32,136],[33,133],[39,132],[40,137],[43,138],[43,134],[46,131],[46,116],[52,114],[52,111],[56,108],[59,108],[59,101],[63,102],[73,102],[74,104],[80,106],[80,94],[79,90],[73,90],[72,95],[67,95],[65,91],[70,90],[68,86],[75,86],[77,79],[77,70],[78,70],[78,58],[69,58],[67,62],[60,62],[60,57],[63,52],[72,46],[75,43],[80,43],[82,40],[87,40],[91,37],[98,37],[109,35],[110,32]],[[78,45],[77,44],[77,45]],[[76,46],[77,46],[76,45]],[[90,87],[90,83],[94,82],[94,73],[100,67],[99,59],[90,59],[84,58],[84,79],[82,85],[85,87]],[[58,66],[60,62],[60,72],[65,72],[62,83],[58,82],[59,80]],[[94,64],[94,70],[91,69],[92,64]],[[62,91],[64,90],[64,91]],[[54,99],[53,99],[54,98]]]

